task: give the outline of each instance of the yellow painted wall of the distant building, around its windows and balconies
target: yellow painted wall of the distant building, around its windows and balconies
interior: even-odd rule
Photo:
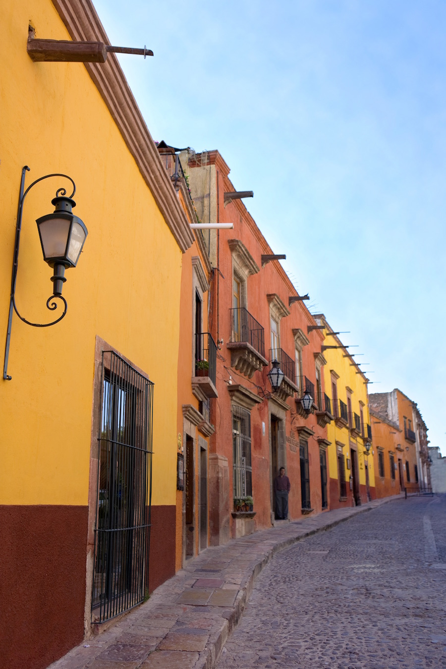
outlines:
[[[324,330],[326,334],[327,330]],[[328,346],[340,345],[340,342],[335,339],[335,337],[326,337],[324,342]],[[370,425],[370,414],[368,411],[368,397],[367,397],[367,386],[364,383],[364,376],[361,373],[357,373],[359,368],[356,365],[352,365],[352,359],[350,357],[344,357],[346,355],[346,349],[327,349],[324,351],[324,357],[326,358],[327,364],[324,365],[324,382],[326,393],[332,399],[332,371],[338,375],[337,379],[337,389],[338,389],[338,400],[342,400],[344,404],[347,404],[347,388],[352,390],[351,401],[352,401],[352,413],[357,413],[360,415],[360,402],[362,402],[362,411],[364,416],[364,429],[366,434],[366,424]],[[344,465],[345,465],[345,474],[348,484],[348,477],[350,476],[350,471],[347,469],[347,458],[350,458],[350,442],[356,444],[356,449],[358,453],[358,470],[359,470],[359,484],[365,486],[366,484],[366,472],[364,468],[365,462],[368,461],[368,477],[370,487],[374,487],[374,463],[372,458],[372,451],[370,450],[370,455],[364,455],[364,441],[360,437],[352,437],[349,434],[348,427],[339,427],[336,425],[335,421],[331,421],[327,425],[327,439],[331,442],[331,445],[328,447],[328,465],[330,471],[330,478],[338,478],[338,463],[337,463],[337,446],[336,441],[345,444],[342,452],[344,454]]]

